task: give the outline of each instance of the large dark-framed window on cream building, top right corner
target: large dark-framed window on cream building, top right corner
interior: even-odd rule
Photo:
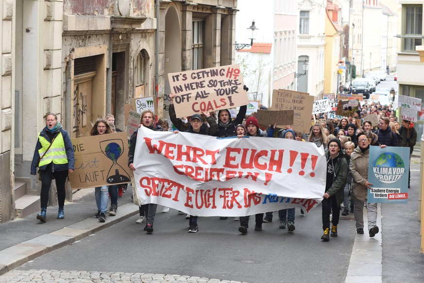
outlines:
[[[417,45],[421,45],[423,35],[423,6],[405,6],[405,36],[419,36],[420,38],[403,38],[403,51],[415,51]]]

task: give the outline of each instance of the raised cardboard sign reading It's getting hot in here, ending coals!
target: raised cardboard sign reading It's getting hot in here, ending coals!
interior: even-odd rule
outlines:
[[[249,104],[240,67],[228,65],[168,74],[178,118]]]

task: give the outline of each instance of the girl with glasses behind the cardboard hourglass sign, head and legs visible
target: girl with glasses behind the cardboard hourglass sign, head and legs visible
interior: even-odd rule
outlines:
[[[105,133],[113,133],[109,123],[104,118],[98,118],[91,128],[88,135],[99,135]],[[110,208],[109,215],[115,216],[118,211],[118,186],[109,185],[96,187],[94,189],[94,196],[96,197],[97,213],[96,218],[99,218],[100,222],[106,221],[107,202],[109,201],[110,195]]]

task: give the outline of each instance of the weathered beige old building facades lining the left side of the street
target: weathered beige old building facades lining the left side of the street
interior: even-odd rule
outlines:
[[[124,105],[157,92],[157,114],[166,117],[168,73],[235,63],[236,6],[235,0],[4,0],[0,220],[40,208],[40,183],[30,167],[45,114],[57,114],[71,137],[85,136],[93,120],[109,113],[123,129]],[[23,187],[19,193],[15,183]]]

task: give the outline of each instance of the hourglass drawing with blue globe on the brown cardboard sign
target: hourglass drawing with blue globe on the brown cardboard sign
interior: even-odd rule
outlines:
[[[127,172],[118,164],[118,158],[124,152],[124,144],[120,139],[110,139],[100,142],[100,149],[102,153],[106,155],[112,161],[109,172],[107,173],[106,182],[110,184],[131,182],[130,176]],[[122,174],[120,174],[122,172]]]

